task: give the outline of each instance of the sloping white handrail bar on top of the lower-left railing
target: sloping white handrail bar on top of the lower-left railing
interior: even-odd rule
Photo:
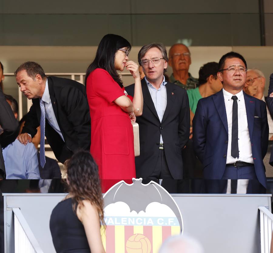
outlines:
[[[29,224],[25,220],[25,217],[23,216],[21,210],[19,208],[12,208],[12,211],[14,213],[14,218],[17,219],[22,226],[23,231],[25,232],[26,237],[28,238],[30,244],[32,245],[33,249],[36,253],[43,253],[42,248],[40,247],[37,239],[35,238],[33,232],[31,231]],[[14,232],[16,235],[16,231]],[[16,243],[16,241],[15,241]],[[22,247],[22,245],[20,245]],[[24,250],[18,251],[18,252],[26,252]]]

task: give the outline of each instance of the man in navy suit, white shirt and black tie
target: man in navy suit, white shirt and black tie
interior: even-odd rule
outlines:
[[[266,187],[266,104],[244,93],[247,63],[229,52],[219,61],[223,89],[198,101],[193,145],[205,179],[258,179]]]

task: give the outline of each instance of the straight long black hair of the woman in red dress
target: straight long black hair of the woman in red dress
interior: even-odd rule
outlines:
[[[84,80],[85,85],[89,74],[96,68],[102,68],[110,74],[110,76],[120,85],[120,87],[123,87],[120,75],[115,70],[115,54],[116,51],[122,47],[127,47],[129,51],[132,48],[128,40],[119,35],[106,34],[101,39],[97,49],[96,57],[86,70],[86,76]]]

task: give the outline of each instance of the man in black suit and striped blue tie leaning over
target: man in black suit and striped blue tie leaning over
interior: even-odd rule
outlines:
[[[44,136],[60,162],[77,149],[90,149],[91,122],[85,87],[66,78],[46,77],[35,62],[25,62],[15,71],[16,81],[32,106],[26,116],[23,144],[32,141],[41,127],[40,162],[45,164]]]

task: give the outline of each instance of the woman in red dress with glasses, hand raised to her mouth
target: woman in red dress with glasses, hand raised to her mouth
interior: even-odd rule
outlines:
[[[143,96],[138,65],[128,60],[130,43],[121,36],[105,35],[86,71],[85,85],[91,116],[90,152],[101,179],[136,176],[131,120],[142,114]],[[134,97],[127,95],[120,74],[130,70]],[[135,112],[135,113],[134,113]]]

